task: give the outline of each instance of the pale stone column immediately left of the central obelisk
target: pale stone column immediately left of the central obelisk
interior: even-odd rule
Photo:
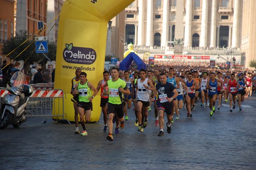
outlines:
[[[169,0],[163,0],[163,26],[161,35],[161,47],[166,46],[169,32]]]

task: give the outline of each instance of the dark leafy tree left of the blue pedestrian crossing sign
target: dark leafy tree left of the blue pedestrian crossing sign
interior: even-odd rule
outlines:
[[[7,57],[15,61],[23,60],[23,68],[25,70],[25,73],[28,72],[30,64],[40,60],[39,55],[35,52],[35,43],[33,43],[33,41],[31,40],[26,41],[28,38],[29,36],[27,32],[25,30],[20,30],[19,32],[16,32],[15,37],[11,37],[10,40],[4,42],[2,48],[3,55],[8,55],[10,52],[18,47]]]

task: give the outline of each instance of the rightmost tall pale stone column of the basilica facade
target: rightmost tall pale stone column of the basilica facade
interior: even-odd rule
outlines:
[[[232,47],[238,46],[239,38],[239,14],[240,14],[240,0],[234,1],[234,17],[233,17],[233,33],[232,33]]]

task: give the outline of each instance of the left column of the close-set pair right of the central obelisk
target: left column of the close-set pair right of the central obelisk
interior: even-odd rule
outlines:
[[[200,46],[207,47],[208,0],[202,0]]]

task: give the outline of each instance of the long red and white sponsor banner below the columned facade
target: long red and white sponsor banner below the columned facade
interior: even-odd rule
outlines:
[[[209,60],[210,56],[202,55],[154,55],[155,59],[194,59],[194,60]]]

